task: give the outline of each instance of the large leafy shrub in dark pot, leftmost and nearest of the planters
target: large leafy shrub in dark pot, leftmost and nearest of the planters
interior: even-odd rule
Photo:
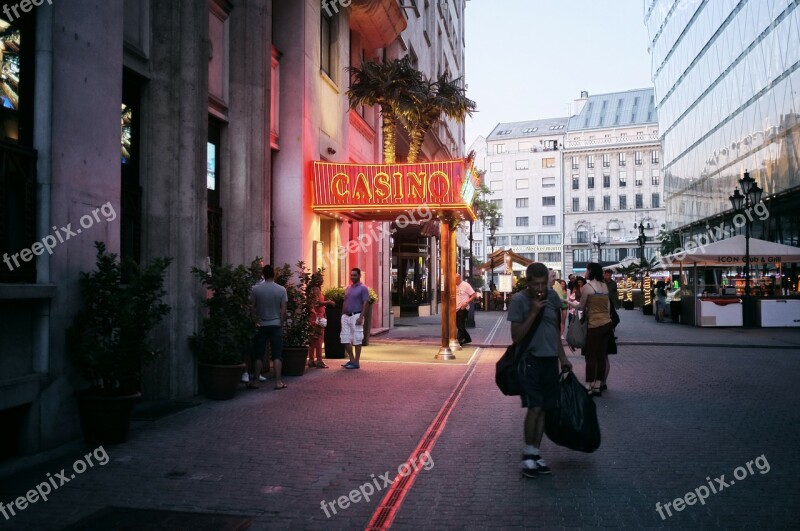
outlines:
[[[120,261],[95,242],[96,270],[82,272],[83,309],[67,329],[67,349],[89,382],[76,393],[87,442],[125,441],[133,407],[141,399],[142,366],[160,351],[150,332],[169,312],[162,302],[171,258],[140,266]]]

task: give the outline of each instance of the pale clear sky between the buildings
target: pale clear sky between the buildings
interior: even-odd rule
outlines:
[[[643,0],[468,0],[466,144],[580,96],[652,87]]]

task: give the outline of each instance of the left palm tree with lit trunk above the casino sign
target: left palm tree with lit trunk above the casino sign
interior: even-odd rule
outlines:
[[[377,63],[364,61],[361,67],[348,67],[352,79],[347,97],[350,108],[359,105],[380,105],[383,131],[383,159],[385,164],[397,161],[397,122],[402,116],[414,112],[423,84],[422,73],[411,65],[409,58]]]

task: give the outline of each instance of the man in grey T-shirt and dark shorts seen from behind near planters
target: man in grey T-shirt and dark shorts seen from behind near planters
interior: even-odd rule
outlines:
[[[283,326],[286,324],[286,305],[289,297],[286,288],[275,283],[275,268],[265,265],[264,282],[253,286],[250,302],[258,317],[258,328],[253,341],[253,374],[261,374],[261,358],[269,343],[272,366],[275,369],[275,389],[286,389],[281,380],[283,367]],[[258,389],[258,384],[251,381],[249,389]]]

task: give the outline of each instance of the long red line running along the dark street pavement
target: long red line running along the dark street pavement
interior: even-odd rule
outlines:
[[[497,323],[495,323],[494,327],[486,338],[487,342],[489,338],[497,332],[497,329],[500,327],[502,322],[502,317],[497,319]],[[480,354],[478,351],[480,351]],[[409,458],[405,461],[406,463],[417,463],[421,454],[424,454],[425,452],[430,453],[430,451],[436,445],[436,441],[439,439],[439,436],[444,432],[444,427],[445,424],[447,424],[447,419],[450,417],[450,413],[455,408],[458,400],[464,393],[464,388],[466,387],[467,382],[469,382],[469,379],[472,377],[475,369],[478,367],[478,360],[480,359],[481,354],[483,354],[483,349],[477,349],[475,351],[475,354],[470,360],[470,364],[466,372],[461,377],[461,380],[459,380],[456,388],[453,389],[453,392],[450,393],[450,396],[447,398],[444,405],[442,405],[441,409],[439,409],[439,412],[436,414],[436,417],[434,417],[433,422],[431,422],[431,424],[428,426],[428,429],[425,431],[425,434],[422,436],[419,444],[416,448],[414,448]],[[405,499],[406,494],[408,494],[408,491],[411,490],[411,487],[414,485],[414,482],[420,473],[420,468],[421,467],[418,466],[409,466],[409,469],[411,469],[412,472],[405,476],[398,472],[392,481],[392,485],[389,487],[389,490],[386,491],[386,495],[378,505],[378,508],[374,513],[372,513],[372,518],[370,518],[370,521],[365,529],[368,531],[378,531],[389,529],[392,526],[392,523],[397,516],[397,512],[403,505],[403,500]]]

